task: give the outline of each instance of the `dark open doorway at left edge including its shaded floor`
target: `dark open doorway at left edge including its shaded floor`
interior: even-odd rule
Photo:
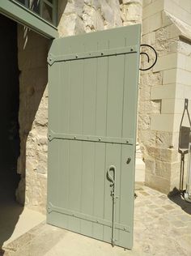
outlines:
[[[11,210],[19,184],[19,68],[17,23],[0,15],[0,248],[11,236],[19,213]],[[11,223],[10,223],[11,220]],[[8,223],[9,221],[9,223]],[[7,223],[6,223],[7,222]]]

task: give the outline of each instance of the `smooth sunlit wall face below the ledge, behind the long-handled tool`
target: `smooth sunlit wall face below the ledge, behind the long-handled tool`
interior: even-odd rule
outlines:
[[[178,147],[179,125],[185,105],[185,98],[189,99],[189,114],[191,114],[191,41],[180,40],[177,49],[176,97],[175,100],[172,101],[175,115],[172,142],[175,145],[175,148]],[[171,108],[171,105],[169,105],[169,108]],[[190,126],[187,114],[185,114],[182,125]],[[188,155],[185,155],[185,184],[187,174],[187,161]],[[171,179],[172,189],[174,186],[177,186],[179,182],[179,176],[180,168],[174,169]]]

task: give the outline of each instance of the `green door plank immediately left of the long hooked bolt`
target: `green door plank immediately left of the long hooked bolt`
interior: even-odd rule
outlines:
[[[99,41],[98,49],[107,49],[107,41]],[[108,91],[108,58],[97,58],[96,84],[96,135],[106,136],[107,91]],[[106,145],[95,143],[95,195],[94,215],[104,219],[104,190],[105,190],[105,151]],[[99,189],[98,189],[99,188]],[[104,227],[93,224],[93,235],[97,239],[104,239]]]

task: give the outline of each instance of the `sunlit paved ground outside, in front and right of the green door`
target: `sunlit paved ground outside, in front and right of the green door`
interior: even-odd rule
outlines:
[[[191,256],[191,203],[146,186],[136,194],[132,251],[41,223],[6,245],[4,256]]]

